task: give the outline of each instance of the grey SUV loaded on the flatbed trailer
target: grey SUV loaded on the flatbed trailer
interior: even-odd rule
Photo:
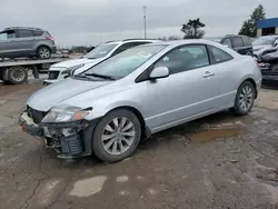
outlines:
[[[0,32],[0,58],[38,57],[48,59],[56,52],[54,39],[39,28],[6,28]]]

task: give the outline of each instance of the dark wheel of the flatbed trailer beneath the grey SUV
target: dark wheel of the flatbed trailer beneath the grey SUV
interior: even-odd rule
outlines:
[[[28,80],[28,72],[22,67],[12,67],[8,69],[8,82],[20,84]]]

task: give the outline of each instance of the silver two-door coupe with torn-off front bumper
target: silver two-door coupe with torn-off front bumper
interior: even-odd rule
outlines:
[[[126,50],[33,93],[22,129],[60,158],[131,156],[141,138],[228,108],[247,115],[261,73],[249,56],[214,41],[157,42]]]

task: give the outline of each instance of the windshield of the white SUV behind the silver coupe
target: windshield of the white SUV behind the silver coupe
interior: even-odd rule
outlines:
[[[119,43],[103,43],[96,47],[89,53],[85,54],[83,58],[88,59],[99,59],[106,57],[110,51],[112,51]]]

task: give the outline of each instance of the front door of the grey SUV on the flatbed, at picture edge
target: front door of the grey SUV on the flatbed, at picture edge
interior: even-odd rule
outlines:
[[[0,32],[0,58],[9,58],[14,52],[14,39],[16,32],[13,30]]]

